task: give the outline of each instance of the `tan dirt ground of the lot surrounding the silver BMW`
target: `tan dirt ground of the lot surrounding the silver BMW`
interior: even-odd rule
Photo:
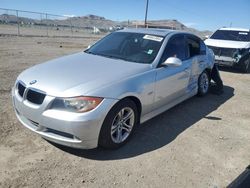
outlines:
[[[98,37],[97,37],[98,38]],[[0,37],[0,187],[225,187],[250,164],[250,74],[221,71],[222,96],[193,97],[124,147],[53,145],[18,122],[11,87],[24,69],[97,38]]]

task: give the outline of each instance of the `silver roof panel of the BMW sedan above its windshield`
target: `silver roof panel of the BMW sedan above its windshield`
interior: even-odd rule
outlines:
[[[165,37],[170,33],[187,33],[184,31],[178,31],[178,30],[171,30],[171,29],[154,29],[154,28],[137,28],[137,29],[122,29],[117,32],[131,32],[131,33],[143,33],[143,34],[149,34],[149,35],[157,35]],[[190,34],[190,33],[188,33]]]

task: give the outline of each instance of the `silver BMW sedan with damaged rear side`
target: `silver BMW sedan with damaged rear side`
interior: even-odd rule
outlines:
[[[195,35],[125,29],[31,67],[12,89],[20,122],[52,142],[117,148],[134,127],[209,89],[214,55]]]

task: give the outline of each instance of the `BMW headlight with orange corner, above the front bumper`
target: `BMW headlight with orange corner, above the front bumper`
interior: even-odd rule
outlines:
[[[56,98],[51,108],[61,109],[70,112],[88,112],[95,109],[103,98],[100,97],[73,97],[73,98]]]

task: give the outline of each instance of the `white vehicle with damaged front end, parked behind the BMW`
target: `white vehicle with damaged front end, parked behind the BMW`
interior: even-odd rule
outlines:
[[[249,29],[221,28],[205,40],[205,43],[213,50],[215,62],[219,65],[250,72]]]

